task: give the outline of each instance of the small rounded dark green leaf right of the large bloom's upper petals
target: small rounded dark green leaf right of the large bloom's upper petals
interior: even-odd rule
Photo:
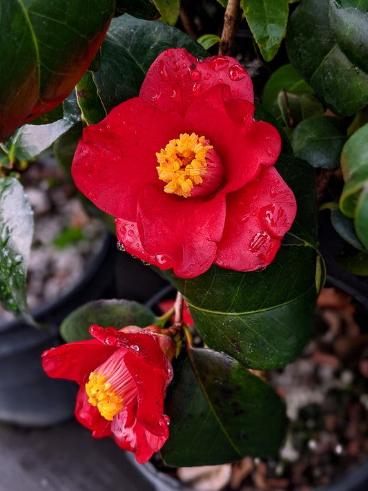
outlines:
[[[312,116],[304,119],[291,133],[296,157],[313,167],[332,169],[340,166],[342,147],[346,142],[344,124],[336,117]]]

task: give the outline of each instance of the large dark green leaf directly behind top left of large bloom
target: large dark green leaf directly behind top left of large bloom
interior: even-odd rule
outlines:
[[[136,97],[159,53],[179,46],[195,56],[208,56],[191,37],[167,23],[142,21],[130,15],[113,19],[101,46],[101,68],[93,74],[106,111]]]

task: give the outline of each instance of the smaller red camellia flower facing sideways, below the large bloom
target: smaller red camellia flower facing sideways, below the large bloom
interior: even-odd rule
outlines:
[[[151,459],[168,439],[164,412],[166,388],[173,378],[173,340],[159,328],[90,327],[95,339],[48,349],[43,369],[50,377],[81,386],[75,414],[93,436],[113,435],[137,462]]]

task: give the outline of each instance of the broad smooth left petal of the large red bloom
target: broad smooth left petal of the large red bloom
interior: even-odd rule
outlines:
[[[134,221],[139,193],[158,180],[155,153],[181,131],[179,116],[138,97],[123,102],[84,129],[72,163],[75,184],[101,210]]]

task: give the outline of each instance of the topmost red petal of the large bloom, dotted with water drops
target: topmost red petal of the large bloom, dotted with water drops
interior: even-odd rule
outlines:
[[[217,84],[229,85],[233,97],[253,102],[251,78],[235,59],[215,56],[198,61],[183,48],[170,49],[149,68],[139,97],[184,116],[197,95]]]

